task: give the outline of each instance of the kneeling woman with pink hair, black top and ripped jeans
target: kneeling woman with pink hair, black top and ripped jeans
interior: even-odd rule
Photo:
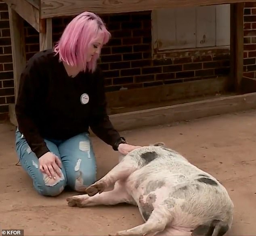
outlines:
[[[138,147],[120,137],[106,112],[97,59],[109,38],[101,18],[84,12],[67,25],[53,49],[32,56],[21,74],[16,150],[44,196],[57,196],[65,186],[81,191],[96,181],[89,127],[122,154]]]

